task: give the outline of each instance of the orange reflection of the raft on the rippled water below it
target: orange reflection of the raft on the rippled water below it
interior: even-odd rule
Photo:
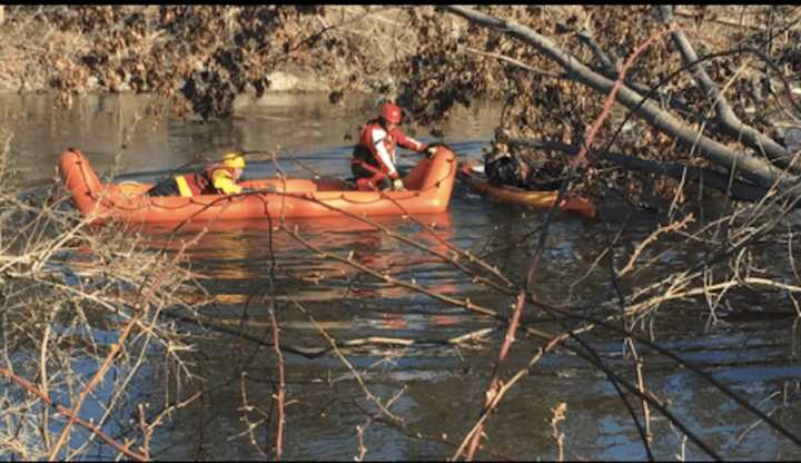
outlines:
[[[406,280],[414,278],[416,284],[436,293],[455,293],[455,277],[443,274],[451,269],[439,268],[447,267],[441,256],[448,255],[446,243],[454,237],[451,214],[421,215],[416,219],[423,225],[403,216],[374,217],[367,221],[340,216],[286,223],[145,224],[132,226],[130,230],[141,234],[154,248],[182,250],[195,263],[196,270],[211,278],[215,286],[235,290],[234,294],[217,295],[228,303],[244,302],[248,293],[243,292],[243,286],[255,286],[254,282],[264,280],[265,272],[274,264],[280,273],[307,284],[294,294],[304,301],[326,297],[394,299],[408,293],[408,289],[377,278],[353,284],[360,273],[358,268],[320,258],[316,249],[349,257],[354,264],[380,274]],[[307,243],[293,236],[293,230]],[[394,238],[389,233],[399,234],[413,244]]]

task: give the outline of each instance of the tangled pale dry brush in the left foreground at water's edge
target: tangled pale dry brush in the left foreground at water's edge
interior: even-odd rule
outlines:
[[[110,449],[148,460],[158,410],[131,388],[142,370],[192,377],[190,348],[165,312],[191,313],[192,275],[144,250],[115,228],[90,229],[75,213],[9,189],[8,141],[0,151],[0,453],[21,460],[76,460]],[[155,404],[156,405],[156,404]],[[87,412],[87,408],[93,412]],[[98,412],[99,411],[99,412]],[[137,416],[109,433],[121,416]],[[85,435],[75,445],[73,435]],[[97,453],[96,453],[97,454]]]

